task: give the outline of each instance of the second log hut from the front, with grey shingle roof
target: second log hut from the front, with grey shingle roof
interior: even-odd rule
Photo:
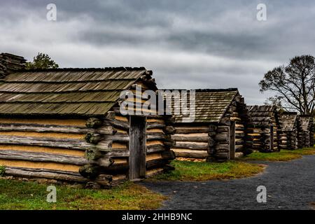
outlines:
[[[172,150],[176,157],[211,162],[234,159],[235,153],[251,153],[245,139],[248,111],[237,89],[195,90],[193,122],[183,122],[183,114],[174,114],[180,106],[180,101],[172,104],[175,118]]]

